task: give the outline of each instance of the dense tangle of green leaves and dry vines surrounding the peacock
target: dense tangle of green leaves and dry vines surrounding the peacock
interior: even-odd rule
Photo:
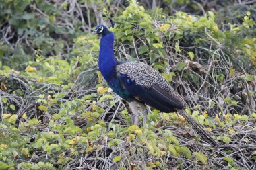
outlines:
[[[255,169],[255,5],[152,2],[1,1],[0,169]],[[97,69],[102,13],[115,56],[158,69],[218,148],[176,113],[131,126]]]

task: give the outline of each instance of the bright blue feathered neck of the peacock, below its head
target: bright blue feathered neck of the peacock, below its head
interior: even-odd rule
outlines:
[[[114,34],[108,32],[103,35],[100,40],[100,56],[98,60],[98,67],[104,79],[109,82],[115,75],[115,66],[117,60],[113,52]]]

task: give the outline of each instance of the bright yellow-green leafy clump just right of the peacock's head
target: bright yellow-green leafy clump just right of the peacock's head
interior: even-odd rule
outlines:
[[[151,63],[160,57],[165,58],[164,46],[157,34],[158,29],[153,25],[152,16],[135,0],[129,3],[125,11],[117,17],[119,22],[112,29],[115,37],[126,46],[133,46],[133,48],[127,48],[129,49],[127,53],[133,58],[138,55],[143,58],[149,57]],[[157,13],[160,12],[160,9],[158,10]]]

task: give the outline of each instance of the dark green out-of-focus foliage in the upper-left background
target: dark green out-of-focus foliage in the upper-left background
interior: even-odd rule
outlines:
[[[81,10],[79,13],[77,9],[69,11],[70,6],[66,2],[54,4],[44,0],[1,0],[0,22],[5,34],[5,38],[1,37],[0,40],[0,59],[3,64],[24,69],[20,64],[33,60],[36,56],[33,52],[38,49],[43,56],[67,60],[73,58],[74,53],[69,48],[73,46],[74,38],[88,30],[88,26],[82,26],[84,20],[80,20],[84,18],[84,7],[80,7],[82,3],[77,3]],[[88,5],[88,9],[91,9],[100,5],[100,1]],[[73,15],[67,15],[69,12]],[[93,22],[94,15],[90,19]]]

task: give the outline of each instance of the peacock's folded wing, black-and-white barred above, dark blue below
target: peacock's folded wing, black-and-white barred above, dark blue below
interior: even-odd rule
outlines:
[[[162,112],[174,112],[187,107],[184,99],[174,91],[168,81],[143,62],[125,62],[117,65],[117,72],[131,79],[126,89],[146,104]],[[129,82],[131,82],[129,81]]]

